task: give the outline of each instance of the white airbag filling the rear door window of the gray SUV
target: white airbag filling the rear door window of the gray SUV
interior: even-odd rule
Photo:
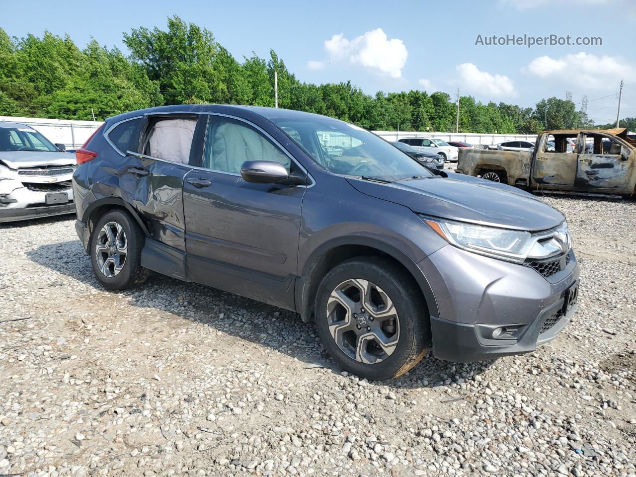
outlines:
[[[150,135],[150,154],[170,162],[187,164],[197,120],[161,120]]]

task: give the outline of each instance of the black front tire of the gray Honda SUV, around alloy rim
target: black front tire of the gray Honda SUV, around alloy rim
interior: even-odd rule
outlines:
[[[380,289],[381,293],[388,296],[397,312],[396,321],[398,322],[397,330],[399,331],[399,335],[396,338],[397,344],[393,345],[390,355],[384,353],[384,359],[376,363],[368,364],[357,360],[355,357],[350,356],[351,350],[347,354],[336,343],[336,338],[332,336],[329,328],[330,322],[332,326],[336,322],[333,321],[335,312],[328,315],[328,303],[333,303],[333,299],[330,298],[331,293],[337,287],[342,286],[343,282],[351,279],[371,282],[371,284]],[[338,305],[339,303],[335,303],[336,307]],[[344,307],[342,309],[345,310]],[[382,310],[382,307],[378,309]],[[318,288],[314,311],[316,328],[325,349],[333,360],[345,370],[369,380],[387,380],[403,375],[419,363],[431,346],[431,324],[422,293],[415,280],[399,265],[389,259],[364,256],[352,258],[340,263],[340,265],[336,265],[329,270]],[[366,313],[369,317],[371,316],[364,309],[362,312],[363,315]],[[369,317],[367,319],[373,321],[373,318]],[[381,318],[377,319],[375,325],[378,326],[381,320]],[[357,328],[359,322],[353,319],[352,321]],[[370,328],[366,329],[369,330]],[[355,334],[365,333],[365,331],[364,329],[362,331],[351,330],[345,333]],[[344,336],[344,334],[341,336]],[[356,350],[360,343],[357,336],[359,335],[354,338],[356,344],[352,345],[352,348],[355,347]],[[370,342],[370,345],[366,346],[371,346],[372,350],[379,350],[381,354],[384,352],[384,348],[380,350],[376,343]],[[354,354],[356,354],[356,357],[358,356],[357,352]]]

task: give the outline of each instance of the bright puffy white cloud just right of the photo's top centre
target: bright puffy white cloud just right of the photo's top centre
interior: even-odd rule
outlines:
[[[344,34],[335,34],[324,42],[332,62],[349,62],[377,70],[392,78],[402,76],[408,51],[399,38],[387,38],[381,28],[365,32],[349,40]]]

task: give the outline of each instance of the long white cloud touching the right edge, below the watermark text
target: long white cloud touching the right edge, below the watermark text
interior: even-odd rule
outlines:
[[[618,85],[623,78],[636,81],[636,69],[620,57],[579,52],[558,58],[537,57],[525,68],[539,78],[590,90]]]

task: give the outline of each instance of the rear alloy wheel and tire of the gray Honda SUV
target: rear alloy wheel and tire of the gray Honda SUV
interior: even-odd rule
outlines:
[[[104,214],[90,238],[90,258],[95,278],[109,290],[124,290],[148,278],[141,266],[144,235],[125,211]]]

